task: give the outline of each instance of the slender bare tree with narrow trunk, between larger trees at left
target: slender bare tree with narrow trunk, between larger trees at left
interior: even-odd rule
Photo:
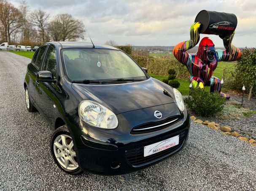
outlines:
[[[40,9],[35,10],[34,12],[31,13],[30,20],[35,26],[38,27],[40,31],[41,44],[43,44],[45,39],[44,36],[45,36],[45,30],[48,24],[48,18],[49,18],[49,14]]]

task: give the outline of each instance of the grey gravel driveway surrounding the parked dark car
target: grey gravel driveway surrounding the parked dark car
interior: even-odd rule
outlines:
[[[51,128],[25,106],[29,61],[0,51],[0,190],[256,190],[256,147],[193,122],[187,147],[145,170],[63,173],[51,157]]]

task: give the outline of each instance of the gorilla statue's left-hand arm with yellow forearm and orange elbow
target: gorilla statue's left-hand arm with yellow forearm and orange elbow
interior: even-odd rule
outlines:
[[[194,23],[190,27],[190,39],[184,42],[180,42],[173,49],[173,55],[177,60],[179,60],[183,64],[187,64],[191,60],[191,56],[187,52],[187,50],[195,47],[199,42],[199,27],[200,23]]]

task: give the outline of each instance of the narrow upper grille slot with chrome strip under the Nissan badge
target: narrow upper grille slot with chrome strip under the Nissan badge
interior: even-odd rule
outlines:
[[[173,125],[174,123],[177,123],[180,120],[181,119],[178,117],[170,117],[161,121],[144,123],[142,125],[134,127],[131,131],[131,134],[150,133],[154,131],[159,131],[161,129]]]

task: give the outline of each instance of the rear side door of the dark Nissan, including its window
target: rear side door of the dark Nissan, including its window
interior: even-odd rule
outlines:
[[[28,92],[30,94],[30,97],[32,98],[33,105],[36,106],[35,103],[35,78],[38,73],[38,71],[41,68],[42,65],[42,58],[46,51],[47,46],[41,47],[37,52],[35,52],[35,55],[32,58],[31,63],[27,66],[27,74],[29,76],[29,80],[27,80],[27,88]]]

